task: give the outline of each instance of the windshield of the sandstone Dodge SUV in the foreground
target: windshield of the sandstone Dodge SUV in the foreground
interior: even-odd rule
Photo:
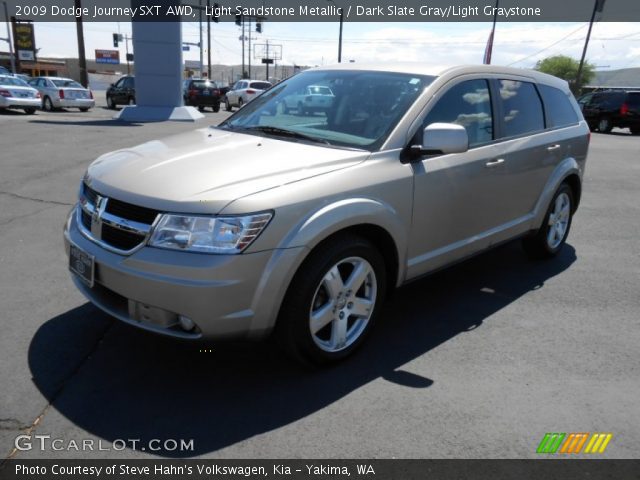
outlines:
[[[220,127],[276,136],[278,129],[286,130],[334,146],[374,151],[434,78],[362,70],[304,72],[247,103]]]

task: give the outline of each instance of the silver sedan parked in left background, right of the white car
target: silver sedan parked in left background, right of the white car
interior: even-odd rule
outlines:
[[[70,78],[36,77],[29,85],[40,92],[42,109],[47,112],[56,108],[78,108],[86,112],[96,105],[91,90]]]

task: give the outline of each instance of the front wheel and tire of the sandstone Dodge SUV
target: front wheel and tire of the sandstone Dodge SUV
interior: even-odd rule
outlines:
[[[359,274],[352,280],[354,272]],[[305,365],[342,360],[371,331],[385,291],[380,252],[355,235],[334,237],[311,252],[294,275],[280,309],[276,337],[291,357]]]

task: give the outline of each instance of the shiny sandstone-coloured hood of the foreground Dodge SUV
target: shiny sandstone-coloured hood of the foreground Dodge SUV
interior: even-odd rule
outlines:
[[[218,213],[238,198],[346,168],[368,156],[205,128],[102,155],[90,165],[85,181],[102,195],[135,205]]]

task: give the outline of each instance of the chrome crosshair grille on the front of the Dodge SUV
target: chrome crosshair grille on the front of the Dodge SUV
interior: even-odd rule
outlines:
[[[157,210],[103,197],[82,185],[78,224],[81,232],[107,250],[130,254],[142,246],[151,232]]]

